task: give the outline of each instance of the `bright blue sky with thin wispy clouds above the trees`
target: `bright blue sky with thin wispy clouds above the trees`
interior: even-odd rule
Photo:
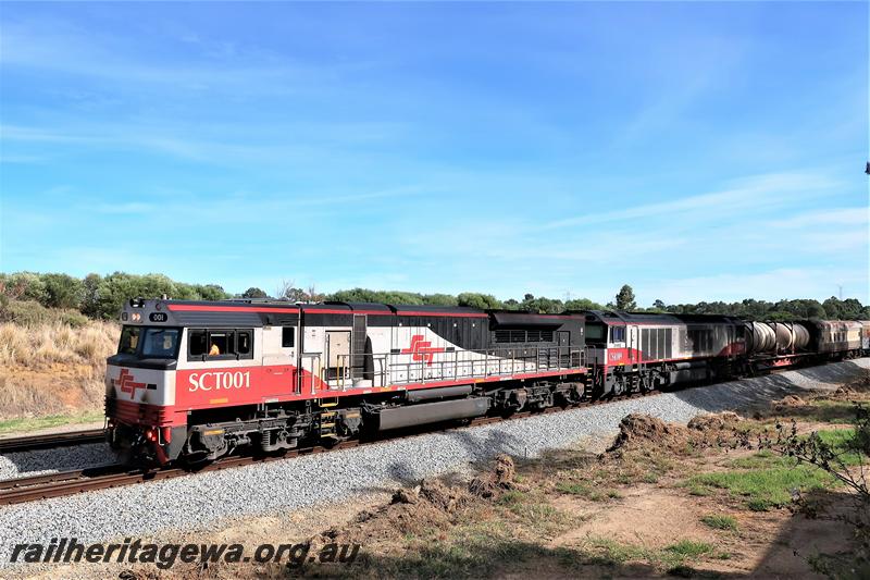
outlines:
[[[0,5],[0,270],[870,301],[868,4]]]

